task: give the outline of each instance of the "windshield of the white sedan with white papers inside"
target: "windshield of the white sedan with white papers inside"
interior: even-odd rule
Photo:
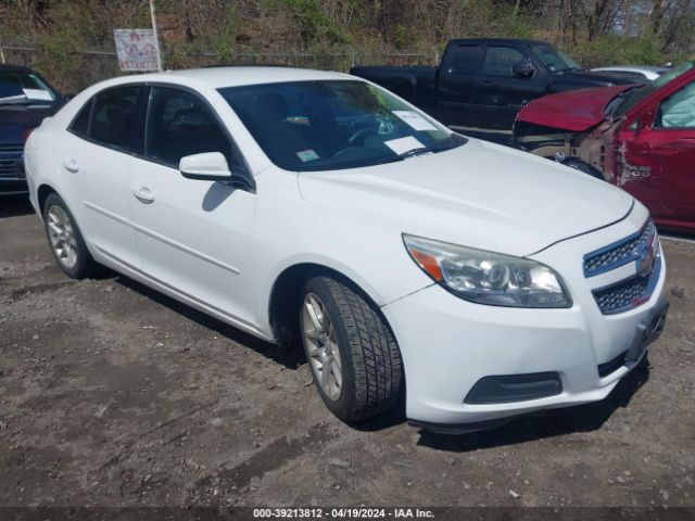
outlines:
[[[270,161],[287,170],[379,165],[465,142],[364,81],[292,81],[219,92]]]

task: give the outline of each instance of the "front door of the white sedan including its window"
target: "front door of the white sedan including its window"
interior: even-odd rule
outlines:
[[[185,297],[250,322],[242,281],[253,268],[256,195],[223,182],[186,179],[186,155],[222,152],[243,169],[226,127],[197,92],[152,86],[144,149],[134,160],[130,204],[142,270]],[[247,304],[244,304],[244,300]]]

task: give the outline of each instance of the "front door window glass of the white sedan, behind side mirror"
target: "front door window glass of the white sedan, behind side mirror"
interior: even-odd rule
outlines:
[[[179,89],[153,87],[146,127],[146,157],[178,168],[181,157],[204,152],[222,152],[230,168],[241,167],[227,134],[200,98]]]

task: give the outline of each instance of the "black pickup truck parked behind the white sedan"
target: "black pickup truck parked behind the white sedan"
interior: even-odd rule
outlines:
[[[503,38],[451,40],[439,67],[356,66],[350,73],[463,129],[508,130],[517,112],[535,98],[634,82],[583,71],[549,43]]]

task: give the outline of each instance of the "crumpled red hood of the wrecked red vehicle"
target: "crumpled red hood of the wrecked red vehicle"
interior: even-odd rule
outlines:
[[[521,109],[517,122],[572,131],[587,130],[604,120],[604,110],[610,100],[630,88],[631,85],[619,85],[544,96]]]

